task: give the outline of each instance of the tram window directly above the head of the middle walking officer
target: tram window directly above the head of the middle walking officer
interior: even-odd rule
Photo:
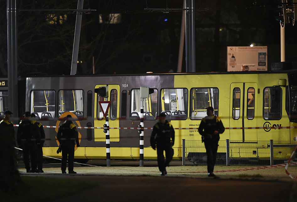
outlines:
[[[186,120],[188,117],[188,90],[186,88],[165,88],[161,90],[162,112],[168,120]]]

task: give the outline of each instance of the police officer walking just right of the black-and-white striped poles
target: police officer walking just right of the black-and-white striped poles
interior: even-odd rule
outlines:
[[[161,175],[166,175],[166,166],[169,166],[173,157],[173,149],[175,132],[170,122],[166,120],[166,114],[160,113],[159,122],[154,125],[150,143],[154,150],[157,145],[158,167]],[[164,150],[166,160],[164,159]]]

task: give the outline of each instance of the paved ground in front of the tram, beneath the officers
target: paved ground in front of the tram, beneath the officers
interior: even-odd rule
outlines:
[[[44,164],[44,173],[25,173],[23,164],[18,164],[23,175],[40,177],[70,177],[92,180],[99,187],[83,190],[77,194],[55,201],[297,201],[296,187],[284,167],[265,168],[257,166],[216,166],[218,178],[207,177],[206,166],[181,166],[181,161],[172,161],[168,174],[160,176],[156,161],[111,161],[106,167],[102,160],[89,161],[91,166],[75,165],[78,174],[62,174],[60,163]],[[249,169],[249,170],[247,170]],[[297,167],[288,171],[297,176]],[[245,174],[250,177],[239,177]],[[262,177],[253,178],[252,175]],[[292,191],[293,190],[293,191]]]

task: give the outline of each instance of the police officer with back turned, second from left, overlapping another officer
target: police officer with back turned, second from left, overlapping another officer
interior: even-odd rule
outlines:
[[[37,144],[40,144],[40,129],[36,120],[29,119],[30,115],[30,112],[25,112],[25,119],[19,123],[17,142],[19,148],[23,149],[27,172],[41,172],[37,169]],[[29,155],[32,169],[30,169]]]

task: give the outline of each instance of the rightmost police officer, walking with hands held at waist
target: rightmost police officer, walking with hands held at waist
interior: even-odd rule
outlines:
[[[213,114],[213,107],[206,108],[207,117],[201,120],[198,131],[204,141],[207,155],[208,177],[214,177],[213,168],[216,162],[220,135],[225,131],[221,119]]]

